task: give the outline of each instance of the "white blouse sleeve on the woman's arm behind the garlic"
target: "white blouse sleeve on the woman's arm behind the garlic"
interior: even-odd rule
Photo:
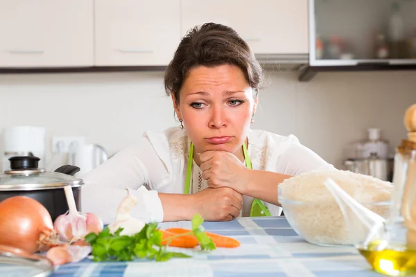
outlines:
[[[166,161],[159,158],[145,136],[81,177],[85,182],[81,190],[81,211],[95,213],[110,224],[128,189],[137,197],[137,205],[131,211],[133,217],[144,222],[162,222],[162,202],[155,189],[166,175]]]

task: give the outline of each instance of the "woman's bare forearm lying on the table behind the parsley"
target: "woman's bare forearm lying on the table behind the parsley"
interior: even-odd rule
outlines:
[[[191,220],[195,206],[192,195],[175,193],[159,193],[163,208],[163,221]]]

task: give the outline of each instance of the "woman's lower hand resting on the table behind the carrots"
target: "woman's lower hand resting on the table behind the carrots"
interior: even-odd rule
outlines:
[[[243,208],[243,195],[232,188],[205,188],[192,197],[193,207],[206,221],[232,220]]]

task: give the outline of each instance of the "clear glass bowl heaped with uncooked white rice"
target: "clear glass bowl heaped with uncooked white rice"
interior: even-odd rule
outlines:
[[[382,217],[388,216],[393,185],[368,175],[346,170],[313,170],[279,184],[279,203],[289,224],[313,244],[356,244],[368,229],[347,208],[345,220],[335,198],[324,185],[330,177],[360,204]],[[349,224],[347,224],[349,222]]]

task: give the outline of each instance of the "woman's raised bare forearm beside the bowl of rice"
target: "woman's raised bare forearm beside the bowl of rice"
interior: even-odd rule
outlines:
[[[248,171],[248,184],[245,191],[242,193],[264,202],[280,206],[277,201],[277,186],[292,177],[291,175],[284,175],[276,172],[269,172],[263,170]]]

